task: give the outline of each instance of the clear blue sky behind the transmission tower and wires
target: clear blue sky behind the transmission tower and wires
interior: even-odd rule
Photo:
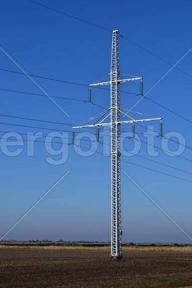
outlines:
[[[37,0],[75,17],[106,27],[119,29],[131,41],[174,64],[191,46],[191,10],[189,0],[181,1],[51,1]],[[51,11],[27,0],[1,2],[0,46],[28,73],[90,84],[110,72],[112,33]],[[143,49],[119,37],[121,72],[143,77],[144,92],[170,66]],[[191,74],[192,53],[178,66]],[[0,68],[19,69],[0,52]],[[149,97],[171,110],[191,118],[192,76],[174,69]],[[25,76],[0,71],[0,88],[42,92]],[[45,79],[35,79],[50,95],[75,99],[88,99],[88,88]],[[139,92],[139,83],[122,84],[122,90]],[[80,124],[102,112],[90,103],[55,99],[67,113],[68,119],[46,97],[0,91],[0,114],[42,119],[54,122]],[[122,93],[122,107],[129,108],[137,96]],[[110,107],[109,91],[92,90],[92,101]],[[135,108],[156,117],[163,117],[164,134],[177,131],[192,146],[191,123],[143,100]],[[137,119],[143,115],[137,115]],[[147,116],[145,116],[147,118]],[[48,124],[0,116],[1,123],[21,124],[54,129],[71,130],[71,126]],[[154,124],[154,123],[151,123]],[[143,124],[146,127],[146,124]],[[2,132],[39,132],[0,124]],[[131,126],[124,126],[130,131]],[[155,124],[158,131],[159,123]],[[146,131],[135,127],[136,132]],[[2,136],[4,133],[0,133]],[[71,134],[70,134],[71,137]],[[23,136],[23,139],[26,139]],[[142,138],[141,138],[142,139]],[[142,139],[146,141],[146,138]],[[132,140],[125,141],[131,149]],[[160,138],[155,144],[160,146]],[[60,144],[54,144],[56,149]],[[82,145],[89,144],[85,141]],[[27,209],[35,203],[68,169],[70,174],[40,203],[6,239],[51,239],[110,241],[111,229],[111,161],[95,153],[89,157],[77,155],[72,146],[63,165],[51,165],[43,143],[35,144],[35,156],[24,151],[8,157],[0,151],[1,201],[0,234],[3,234]],[[170,143],[172,149],[177,145]],[[99,152],[102,146],[99,145]],[[139,155],[147,155],[141,145]],[[192,159],[191,150],[183,157]],[[192,171],[190,161],[170,157],[160,151],[156,161]],[[55,156],[55,159],[59,159]],[[130,162],[191,180],[191,175],[152,163],[146,159],[125,157]],[[153,197],[190,235],[192,235],[192,183],[146,170],[122,162],[124,168],[138,184]],[[189,239],[160,212],[125,175],[122,175],[122,224],[124,242],[189,242]],[[1,236],[1,235],[0,235]]]

